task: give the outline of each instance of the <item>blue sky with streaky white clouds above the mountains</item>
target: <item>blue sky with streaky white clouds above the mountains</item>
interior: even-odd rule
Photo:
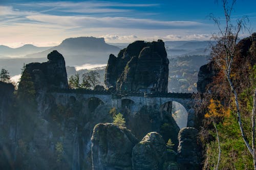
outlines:
[[[237,0],[232,20],[247,16],[247,26],[255,32],[255,7],[255,0]],[[81,36],[103,37],[109,43],[209,40],[218,32],[210,13],[224,21],[216,0],[0,0],[0,45],[55,46]]]

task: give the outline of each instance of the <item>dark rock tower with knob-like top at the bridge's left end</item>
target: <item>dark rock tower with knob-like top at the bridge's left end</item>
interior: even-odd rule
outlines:
[[[27,81],[26,78],[30,76],[36,90],[67,89],[69,86],[63,56],[52,51],[47,58],[48,62],[27,64],[20,85],[26,84],[23,81]]]

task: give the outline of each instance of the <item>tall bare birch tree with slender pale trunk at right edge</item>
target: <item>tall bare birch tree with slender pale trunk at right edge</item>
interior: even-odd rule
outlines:
[[[228,3],[228,0],[221,0],[223,9],[224,9],[224,15],[225,15],[225,22],[224,27],[221,25],[221,21],[219,18],[211,15],[212,20],[216,23],[219,29],[219,33],[213,34],[212,39],[214,39],[217,44],[212,45],[212,53],[211,57],[212,60],[214,60],[220,69],[224,70],[225,77],[229,83],[229,86],[231,88],[231,92],[234,95],[234,102],[236,104],[236,112],[237,112],[237,118],[238,118],[238,124],[241,131],[241,136],[244,140],[244,143],[250,152],[250,154],[253,157],[253,164],[254,164],[254,170],[256,170],[256,154],[255,154],[255,93],[254,93],[254,103],[253,103],[253,109],[251,114],[251,138],[252,138],[252,145],[250,146],[249,141],[247,140],[244,132],[244,128],[241,121],[241,109],[239,105],[239,99],[238,99],[238,93],[236,88],[234,87],[234,84],[231,79],[231,67],[234,57],[236,57],[236,45],[239,40],[239,34],[242,32],[242,30],[245,28],[245,23],[248,21],[247,17],[242,17],[240,19],[236,20],[236,23],[234,23],[233,20],[231,20],[231,13],[233,11],[233,6],[236,4],[236,0],[232,0],[231,4]]]

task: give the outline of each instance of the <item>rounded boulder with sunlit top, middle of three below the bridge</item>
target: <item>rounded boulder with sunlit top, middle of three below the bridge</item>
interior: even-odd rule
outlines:
[[[159,170],[163,168],[167,147],[162,136],[150,132],[133,148],[134,170]]]

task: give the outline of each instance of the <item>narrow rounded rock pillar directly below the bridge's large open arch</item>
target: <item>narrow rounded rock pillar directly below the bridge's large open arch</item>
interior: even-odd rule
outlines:
[[[201,148],[198,142],[198,130],[195,128],[183,128],[179,132],[179,147],[177,162],[180,169],[201,169]]]

